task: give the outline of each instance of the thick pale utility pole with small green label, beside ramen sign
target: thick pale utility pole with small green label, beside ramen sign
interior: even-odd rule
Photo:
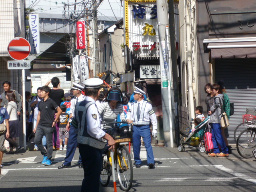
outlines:
[[[173,143],[173,110],[174,93],[172,83],[172,60],[170,60],[170,36],[168,6],[166,0],[157,0],[158,38],[161,67],[161,94],[164,126],[164,141],[167,147],[174,147]]]

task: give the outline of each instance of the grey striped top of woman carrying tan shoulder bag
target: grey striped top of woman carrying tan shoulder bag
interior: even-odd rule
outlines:
[[[220,119],[221,119],[220,105],[222,104],[223,104],[223,94],[218,94],[217,96],[214,97],[214,102],[211,107],[212,114],[210,116],[210,123],[220,123]]]

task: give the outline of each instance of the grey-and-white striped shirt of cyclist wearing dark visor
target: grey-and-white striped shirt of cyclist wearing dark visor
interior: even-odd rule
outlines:
[[[103,102],[99,106],[98,110],[104,124],[115,121],[118,114],[120,114],[121,120],[125,120],[124,108],[122,104],[117,104],[115,109],[111,109],[108,102]],[[108,127],[110,126],[105,126],[104,128]]]

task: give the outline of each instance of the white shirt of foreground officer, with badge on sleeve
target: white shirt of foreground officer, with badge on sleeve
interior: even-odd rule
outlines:
[[[84,100],[91,101],[96,104],[95,100],[91,97],[86,97]],[[102,130],[102,119],[98,112],[98,108],[94,104],[88,107],[86,113],[87,133],[94,138],[100,139],[104,137],[106,133]]]

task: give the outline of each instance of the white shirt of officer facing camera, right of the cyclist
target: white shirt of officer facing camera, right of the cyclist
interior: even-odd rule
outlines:
[[[144,100],[141,100],[139,103],[140,103],[140,113],[142,113],[142,103],[143,103]],[[136,105],[136,109],[137,109],[137,104],[138,102],[134,102],[132,103],[128,113],[127,113],[127,116],[126,116],[126,120],[130,119],[132,121],[134,121],[134,116],[133,116],[133,105]],[[150,112],[152,110],[152,105],[147,102],[146,104],[146,107],[145,107],[145,112],[144,112],[144,116],[143,116],[143,121],[151,121],[152,123],[152,128],[153,129],[157,129],[157,120],[156,120],[156,114],[153,113],[152,115],[149,115],[148,112]]]

